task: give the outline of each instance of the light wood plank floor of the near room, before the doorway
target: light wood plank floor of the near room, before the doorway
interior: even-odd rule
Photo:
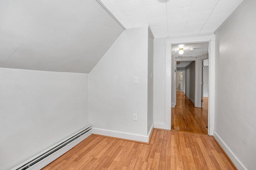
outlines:
[[[154,129],[150,144],[92,134],[43,170],[233,170],[211,136]]]

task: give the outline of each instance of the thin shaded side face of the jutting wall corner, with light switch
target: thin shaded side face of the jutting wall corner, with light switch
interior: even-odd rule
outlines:
[[[148,27],[148,133],[153,125],[154,37]]]

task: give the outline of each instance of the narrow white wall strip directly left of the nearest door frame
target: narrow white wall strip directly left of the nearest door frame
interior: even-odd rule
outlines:
[[[165,124],[165,40],[154,40],[154,127]]]

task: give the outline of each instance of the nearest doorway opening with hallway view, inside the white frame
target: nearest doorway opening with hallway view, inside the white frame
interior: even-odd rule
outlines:
[[[208,55],[209,42],[172,45],[172,130],[208,134]]]

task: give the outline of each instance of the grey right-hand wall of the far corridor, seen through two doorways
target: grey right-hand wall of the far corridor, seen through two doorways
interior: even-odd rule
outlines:
[[[187,67],[186,71],[186,90],[185,95],[192,103],[195,103],[195,61],[192,61]]]

